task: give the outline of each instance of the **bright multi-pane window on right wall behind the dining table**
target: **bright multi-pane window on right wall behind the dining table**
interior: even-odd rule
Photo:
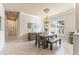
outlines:
[[[64,20],[56,19],[51,22],[51,32],[56,33],[58,35],[64,34]]]

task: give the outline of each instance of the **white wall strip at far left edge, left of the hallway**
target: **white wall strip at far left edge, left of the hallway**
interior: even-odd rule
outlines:
[[[0,4],[0,16],[2,17],[1,21],[1,30],[0,30],[0,50],[2,50],[5,43],[5,16],[4,16],[4,8],[3,5]]]

